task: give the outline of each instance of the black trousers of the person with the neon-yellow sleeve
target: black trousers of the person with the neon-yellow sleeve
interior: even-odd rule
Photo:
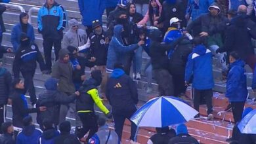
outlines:
[[[98,131],[98,117],[95,115],[95,113],[78,113],[78,116],[83,123],[83,128],[79,130],[77,137],[81,139],[88,131],[90,131],[88,137],[86,138],[86,141],[88,142],[89,139],[91,139],[91,137]]]

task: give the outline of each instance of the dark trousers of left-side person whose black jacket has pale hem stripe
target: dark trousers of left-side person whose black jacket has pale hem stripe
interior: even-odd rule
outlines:
[[[35,70],[33,71],[21,71],[22,77],[24,77],[24,87],[25,92],[30,93],[30,101],[32,104],[37,102],[37,97],[35,96],[35,87],[33,86],[33,76],[35,75]]]

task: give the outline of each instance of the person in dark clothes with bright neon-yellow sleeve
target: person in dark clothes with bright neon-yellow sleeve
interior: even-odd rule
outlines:
[[[81,122],[83,123],[83,128],[81,128],[77,137],[81,139],[87,132],[86,141],[97,132],[97,117],[95,115],[94,104],[106,115],[111,118],[112,115],[110,111],[103,105],[102,99],[98,95],[97,86],[100,85],[102,81],[102,74],[100,70],[95,70],[91,72],[91,78],[85,80],[83,85],[79,89],[81,96],[76,101],[76,111],[79,115]]]

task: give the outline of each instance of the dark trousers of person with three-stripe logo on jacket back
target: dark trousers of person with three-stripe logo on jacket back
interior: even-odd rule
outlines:
[[[119,111],[119,112],[114,112],[113,113],[113,118],[115,122],[115,131],[116,134],[118,135],[119,141],[121,141],[122,133],[123,133],[123,124],[125,124],[125,119],[127,118],[130,120],[131,116],[135,113],[136,109],[133,111]],[[133,123],[131,120],[131,137],[130,139],[133,141],[136,141],[136,132],[137,132],[137,126],[135,123]]]

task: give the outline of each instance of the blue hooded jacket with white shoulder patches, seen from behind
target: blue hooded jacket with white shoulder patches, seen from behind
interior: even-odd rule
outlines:
[[[185,81],[189,82],[192,75],[192,87],[197,90],[207,90],[214,86],[213,62],[211,51],[203,45],[198,45],[188,56],[186,63]]]

